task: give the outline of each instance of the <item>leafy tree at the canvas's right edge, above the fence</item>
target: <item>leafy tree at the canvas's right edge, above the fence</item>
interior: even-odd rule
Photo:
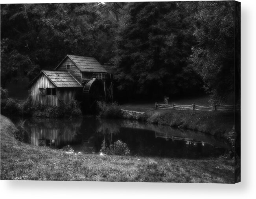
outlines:
[[[234,2],[199,2],[193,35],[193,68],[215,102],[234,96]]]

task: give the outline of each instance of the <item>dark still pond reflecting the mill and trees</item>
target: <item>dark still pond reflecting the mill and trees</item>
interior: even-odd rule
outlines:
[[[230,146],[222,139],[198,131],[148,124],[137,120],[27,119],[28,143],[62,148],[71,145],[75,152],[98,153],[107,144],[125,142],[131,155],[200,158],[224,154]]]

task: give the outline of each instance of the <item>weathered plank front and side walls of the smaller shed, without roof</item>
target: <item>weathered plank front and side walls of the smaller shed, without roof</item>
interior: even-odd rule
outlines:
[[[31,86],[32,104],[37,102],[45,106],[59,106],[60,101],[68,102],[74,99],[77,88],[57,88],[56,95],[39,95],[39,88],[56,88],[53,83],[42,73]]]

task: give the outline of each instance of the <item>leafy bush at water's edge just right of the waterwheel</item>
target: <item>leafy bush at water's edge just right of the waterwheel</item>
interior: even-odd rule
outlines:
[[[121,117],[120,106],[114,103],[97,102],[99,116],[103,118],[119,118]]]

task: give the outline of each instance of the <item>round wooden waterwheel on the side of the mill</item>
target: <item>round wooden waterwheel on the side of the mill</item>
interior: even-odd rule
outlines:
[[[97,79],[89,80],[83,88],[83,95],[89,108],[91,108],[97,100],[105,99],[103,82]]]

